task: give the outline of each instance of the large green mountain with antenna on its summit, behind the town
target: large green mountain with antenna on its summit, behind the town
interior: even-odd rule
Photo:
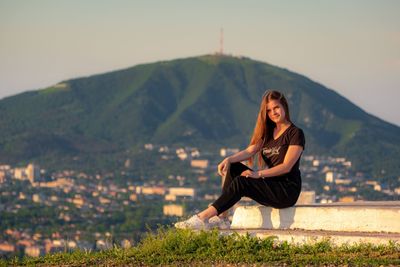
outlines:
[[[144,143],[244,147],[261,96],[278,89],[308,154],[345,156],[398,176],[400,128],[333,90],[249,58],[206,55],[143,64],[0,100],[0,162],[96,167]]]

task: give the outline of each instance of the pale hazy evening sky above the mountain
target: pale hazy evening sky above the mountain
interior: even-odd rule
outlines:
[[[0,99],[224,52],[287,68],[400,126],[400,1],[0,0]]]

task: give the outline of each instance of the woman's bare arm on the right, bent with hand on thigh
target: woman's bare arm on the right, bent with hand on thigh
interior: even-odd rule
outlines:
[[[283,162],[276,165],[270,169],[251,171],[246,170],[241,175],[251,178],[261,178],[261,177],[272,177],[279,176],[290,172],[296,161],[299,159],[301,153],[303,152],[303,147],[298,145],[291,145],[288,147],[285,158]]]

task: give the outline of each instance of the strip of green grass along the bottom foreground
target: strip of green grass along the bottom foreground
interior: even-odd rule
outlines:
[[[217,230],[191,231],[160,228],[130,249],[114,247],[105,251],[80,251],[50,254],[39,258],[0,260],[9,265],[400,265],[400,245],[342,245],[329,241],[292,245],[273,237],[259,239],[249,235],[220,235]]]

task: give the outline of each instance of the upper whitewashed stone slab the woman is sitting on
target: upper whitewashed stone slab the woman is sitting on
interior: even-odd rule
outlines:
[[[236,208],[231,229],[302,229],[400,233],[400,201]]]

